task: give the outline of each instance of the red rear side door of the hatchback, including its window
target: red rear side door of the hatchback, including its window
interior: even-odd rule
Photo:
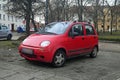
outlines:
[[[98,39],[95,30],[91,25],[85,24],[85,32],[86,32],[85,38],[86,38],[86,47],[87,47],[85,52],[90,52],[94,48]]]

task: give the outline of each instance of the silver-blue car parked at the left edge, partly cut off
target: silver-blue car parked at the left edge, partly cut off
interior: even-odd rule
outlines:
[[[12,32],[4,25],[0,25],[0,39],[2,38],[7,38],[7,40],[12,39]]]

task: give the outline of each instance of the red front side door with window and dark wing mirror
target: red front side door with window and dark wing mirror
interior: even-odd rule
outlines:
[[[85,48],[84,30],[81,24],[73,25],[68,37],[68,53],[70,56],[81,54]]]

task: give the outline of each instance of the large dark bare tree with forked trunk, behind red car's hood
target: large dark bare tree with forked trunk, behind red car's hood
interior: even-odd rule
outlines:
[[[43,6],[44,2],[41,0],[10,0],[6,4],[6,11],[8,14],[22,17],[26,20],[26,34],[28,36],[30,34],[30,21],[32,21],[34,29],[37,31],[34,15],[37,14]]]

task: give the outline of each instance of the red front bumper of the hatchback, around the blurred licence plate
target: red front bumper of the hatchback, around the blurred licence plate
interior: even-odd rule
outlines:
[[[22,48],[33,50],[33,54],[23,53]],[[31,47],[31,46],[25,46],[25,45],[21,45],[19,47],[19,53],[25,59],[32,60],[32,61],[47,62],[47,63],[51,63],[54,56],[54,54],[52,53],[52,50],[50,49],[40,48],[40,47]]]

